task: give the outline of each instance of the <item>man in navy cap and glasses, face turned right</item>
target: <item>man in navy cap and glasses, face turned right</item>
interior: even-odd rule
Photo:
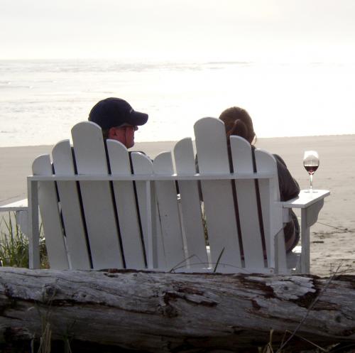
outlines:
[[[124,99],[110,97],[92,107],[89,121],[101,126],[104,139],[112,139],[127,148],[134,145],[134,132],[146,124],[148,114],[136,112]]]

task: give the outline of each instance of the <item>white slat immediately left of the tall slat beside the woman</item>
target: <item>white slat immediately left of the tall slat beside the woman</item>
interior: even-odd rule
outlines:
[[[175,168],[178,175],[196,173],[192,139],[183,139],[174,148]],[[207,267],[207,250],[197,181],[179,181],[182,227],[184,227],[188,264]],[[194,267],[194,266],[192,266]]]

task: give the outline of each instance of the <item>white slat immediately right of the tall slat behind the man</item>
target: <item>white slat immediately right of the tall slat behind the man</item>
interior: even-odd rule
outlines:
[[[107,140],[112,175],[131,175],[127,148],[118,141]],[[144,268],[143,235],[139,225],[136,197],[132,181],[115,181],[114,196],[119,217],[119,229],[127,268]]]

